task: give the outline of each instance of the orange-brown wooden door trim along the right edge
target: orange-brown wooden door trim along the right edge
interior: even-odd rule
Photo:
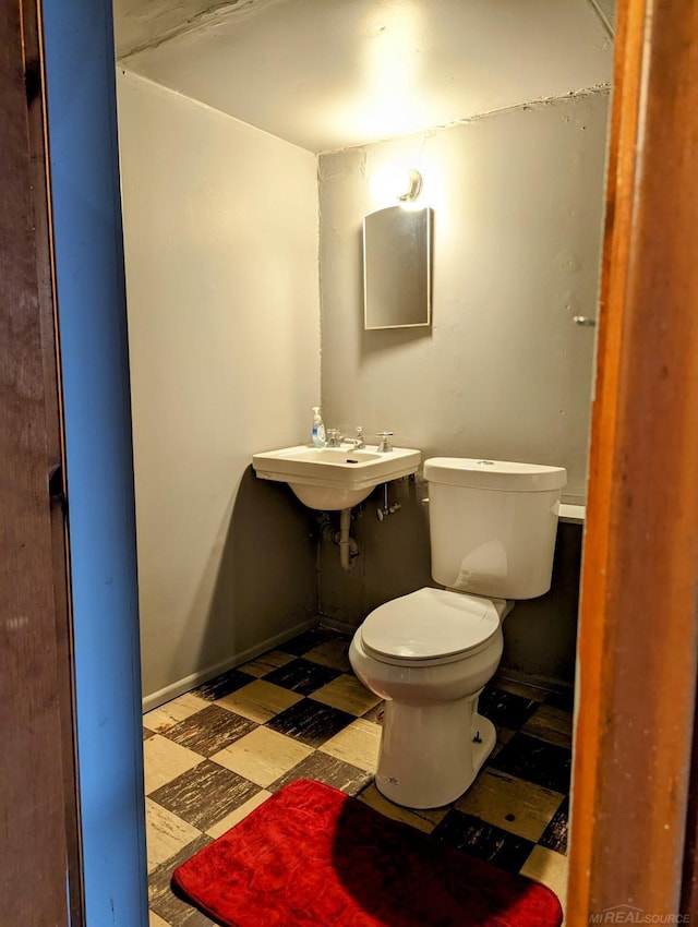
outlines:
[[[698,5],[618,7],[571,927],[678,913],[698,650]]]

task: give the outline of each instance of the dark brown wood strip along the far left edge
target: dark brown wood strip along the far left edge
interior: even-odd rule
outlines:
[[[36,0],[0,13],[0,697],[8,924],[80,925],[81,865],[44,75]],[[67,900],[67,886],[69,899]]]

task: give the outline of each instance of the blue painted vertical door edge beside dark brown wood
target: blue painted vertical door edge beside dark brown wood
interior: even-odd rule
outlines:
[[[44,0],[89,927],[146,927],[135,519],[109,0]]]

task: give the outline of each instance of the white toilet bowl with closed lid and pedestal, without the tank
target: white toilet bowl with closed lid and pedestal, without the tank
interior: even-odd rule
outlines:
[[[381,605],[349,660],[386,700],[375,784],[398,805],[437,808],[471,784],[496,741],[478,696],[502,657],[512,603],[419,589]]]

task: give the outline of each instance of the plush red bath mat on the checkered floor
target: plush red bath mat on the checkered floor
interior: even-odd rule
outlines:
[[[172,874],[231,927],[558,927],[553,892],[308,779]]]

